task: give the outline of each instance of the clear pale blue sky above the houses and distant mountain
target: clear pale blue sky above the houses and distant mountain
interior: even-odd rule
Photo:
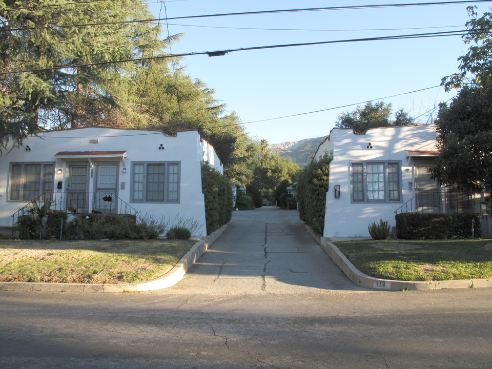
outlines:
[[[169,0],[165,5],[150,1],[149,7],[156,17],[164,18],[166,13],[167,17],[180,17],[406,3],[409,2]],[[489,11],[492,2],[477,5],[481,15]],[[466,6],[235,15],[161,24],[166,35],[167,28],[171,35],[183,33],[172,46],[173,53],[206,52],[460,30],[465,29],[469,19]],[[277,144],[325,136],[340,114],[354,110],[357,103],[364,105],[366,100],[383,99],[393,105],[394,112],[403,108],[419,121],[429,121],[436,116],[435,112],[430,115],[433,109],[455,93],[445,93],[442,87],[406,93],[440,85],[443,76],[458,71],[457,59],[467,49],[460,36],[447,36],[237,51],[216,57],[193,55],[182,59],[181,65],[186,67],[186,74],[215,90],[215,98],[226,104],[229,112],[236,112],[251,137]],[[404,95],[389,97],[399,94]],[[351,104],[356,105],[332,109]],[[331,110],[303,114],[325,109]],[[295,114],[303,115],[272,119]],[[257,120],[263,121],[254,122]]]

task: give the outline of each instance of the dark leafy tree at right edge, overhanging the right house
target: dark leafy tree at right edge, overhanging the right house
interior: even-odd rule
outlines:
[[[476,7],[468,7],[471,19],[463,36],[472,44],[459,57],[460,72],[444,77],[446,90],[461,89],[447,106],[441,104],[436,120],[440,151],[431,178],[441,185],[488,193],[492,190],[492,13],[477,17]]]

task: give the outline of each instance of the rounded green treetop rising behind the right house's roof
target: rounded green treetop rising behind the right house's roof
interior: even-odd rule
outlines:
[[[413,124],[413,118],[400,109],[395,114],[395,120],[391,120],[391,104],[378,101],[373,105],[372,101],[366,103],[364,108],[358,106],[352,112],[341,114],[335,122],[335,127],[351,128],[356,133],[362,133],[370,128],[406,126]]]

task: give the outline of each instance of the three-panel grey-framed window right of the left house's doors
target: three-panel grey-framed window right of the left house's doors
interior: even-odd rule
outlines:
[[[179,162],[132,163],[132,201],[179,202]]]

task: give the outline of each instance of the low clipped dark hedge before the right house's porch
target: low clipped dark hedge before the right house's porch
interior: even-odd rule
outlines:
[[[395,216],[397,237],[401,239],[468,238],[482,235],[480,217],[473,213],[419,214]]]

